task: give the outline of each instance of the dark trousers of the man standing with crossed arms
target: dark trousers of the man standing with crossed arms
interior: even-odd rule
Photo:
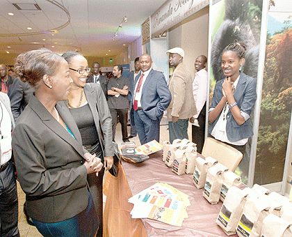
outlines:
[[[122,140],[128,139],[127,130],[127,120],[128,120],[128,108],[126,109],[112,109],[109,108],[111,112],[111,119],[113,123],[113,139],[115,139],[115,127],[117,125],[117,116],[120,118],[120,123],[122,125]]]

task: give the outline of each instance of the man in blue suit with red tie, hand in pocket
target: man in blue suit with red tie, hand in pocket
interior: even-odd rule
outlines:
[[[143,54],[139,59],[141,73],[131,91],[131,116],[141,144],[159,142],[160,121],[171,101],[170,90],[162,72],[153,70],[152,59]]]

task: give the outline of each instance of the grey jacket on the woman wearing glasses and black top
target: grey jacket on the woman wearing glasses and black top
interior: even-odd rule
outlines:
[[[97,134],[99,135],[99,143],[104,144],[103,153],[104,156],[113,155],[113,130],[111,123],[111,113],[108,109],[108,103],[104,97],[102,87],[96,83],[86,83],[84,86],[84,93],[88,101],[88,105],[95,120],[95,128],[97,129]],[[58,102],[60,105],[65,105],[65,109],[69,112],[67,100]],[[100,130],[100,125],[102,126],[102,131]]]

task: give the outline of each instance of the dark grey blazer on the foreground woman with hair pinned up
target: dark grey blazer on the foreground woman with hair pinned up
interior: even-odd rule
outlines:
[[[31,97],[13,131],[18,180],[26,193],[30,217],[39,222],[60,222],[88,205],[86,167],[81,135],[70,112],[56,109],[74,137]]]

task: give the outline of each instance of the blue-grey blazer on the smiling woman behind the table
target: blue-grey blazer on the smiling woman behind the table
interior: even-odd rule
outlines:
[[[223,97],[222,84],[224,80],[225,79],[220,80],[215,85],[210,109],[214,109]],[[234,91],[234,99],[239,109],[241,109],[243,116],[247,116],[249,118],[252,110],[254,109],[255,101],[257,100],[257,80],[241,72],[241,76],[239,77],[238,84]],[[209,126],[210,134],[218,122],[219,117],[220,115],[217,117],[216,121],[211,123]],[[254,135],[250,125],[250,119],[247,119],[242,125],[238,125],[232,116],[230,109],[227,113],[226,133],[230,142],[237,142],[241,139],[252,137],[252,135]]]

